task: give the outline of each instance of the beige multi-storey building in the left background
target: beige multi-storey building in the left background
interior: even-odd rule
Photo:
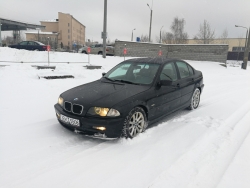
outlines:
[[[50,37],[50,45],[54,48],[77,48],[85,44],[85,26],[70,14],[58,12],[58,19],[40,21],[46,26],[41,31],[27,31],[26,40],[39,40],[45,44]]]

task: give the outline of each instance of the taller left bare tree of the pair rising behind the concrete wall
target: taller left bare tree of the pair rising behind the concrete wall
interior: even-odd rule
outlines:
[[[170,27],[173,34],[173,43],[174,44],[186,44],[188,39],[187,32],[184,32],[185,19],[175,17],[172,25]]]

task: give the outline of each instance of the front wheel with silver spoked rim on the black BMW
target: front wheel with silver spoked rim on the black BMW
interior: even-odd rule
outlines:
[[[134,138],[145,131],[148,126],[147,116],[141,107],[133,108],[123,123],[123,136]]]

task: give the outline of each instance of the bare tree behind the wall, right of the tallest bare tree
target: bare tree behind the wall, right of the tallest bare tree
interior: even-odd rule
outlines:
[[[200,24],[198,34],[194,37],[197,43],[210,44],[215,38],[215,33],[212,31],[210,24],[207,20],[204,20],[203,24]]]

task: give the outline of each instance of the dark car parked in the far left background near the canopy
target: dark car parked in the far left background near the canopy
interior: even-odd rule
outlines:
[[[24,49],[24,50],[35,50],[35,51],[46,51],[47,46],[38,41],[22,41],[18,44],[9,45],[10,48]]]

